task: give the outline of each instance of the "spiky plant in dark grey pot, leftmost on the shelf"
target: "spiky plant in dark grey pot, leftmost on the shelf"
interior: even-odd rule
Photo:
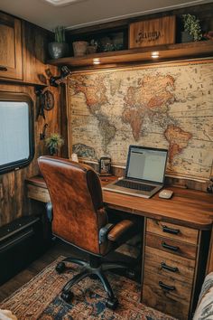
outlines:
[[[59,59],[68,54],[68,43],[65,42],[65,28],[57,26],[54,30],[55,41],[48,44],[51,59]]]

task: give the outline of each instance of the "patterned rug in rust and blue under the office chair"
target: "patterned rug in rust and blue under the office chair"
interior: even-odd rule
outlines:
[[[0,308],[11,310],[18,320],[172,320],[140,301],[140,286],[134,281],[108,274],[108,279],[119,300],[116,311],[105,306],[106,294],[98,280],[85,278],[74,286],[71,303],[64,302],[60,290],[76,273],[79,266],[72,264],[71,270],[63,274],[55,271],[62,257],[44,268],[30,282],[18,289],[0,304]]]

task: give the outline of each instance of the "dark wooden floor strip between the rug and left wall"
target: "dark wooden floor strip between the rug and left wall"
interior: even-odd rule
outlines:
[[[25,283],[30,281],[35,275],[42,271],[43,268],[48,266],[59,256],[75,256],[80,258],[80,253],[79,250],[57,240],[57,242],[52,245],[51,249],[48,249],[40,259],[32,262],[32,264],[25,268],[22,272],[17,274],[14,278],[11,278],[4,285],[0,286],[0,302],[4,300],[5,297],[13,294],[14,291],[19,287],[22,287]]]

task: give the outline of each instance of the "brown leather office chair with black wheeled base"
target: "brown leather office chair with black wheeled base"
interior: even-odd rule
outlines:
[[[100,180],[90,166],[52,156],[41,156],[38,164],[51,195],[53,234],[89,253],[89,262],[67,258],[56,267],[59,273],[65,269],[66,261],[83,267],[82,272],[63,287],[61,297],[68,302],[72,297],[69,291],[72,286],[83,278],[96,275],[108,296],[106,306],[115,309],[117,299],[104,271],[126,266],[101,263],[100,259],[116,248],[117,241],[133,228],[134,222],[108,223]]]

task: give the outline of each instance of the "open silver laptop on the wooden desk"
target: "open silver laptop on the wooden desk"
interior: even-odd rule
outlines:
[[[168,150],[129,146],[125,178],[106,184],[102,189],[150,198],[162,189]]]

